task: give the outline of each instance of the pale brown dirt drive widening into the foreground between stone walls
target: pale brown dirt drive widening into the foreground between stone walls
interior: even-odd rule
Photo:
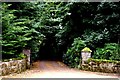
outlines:
[[[118,78],[117,74],[81,71],[71,69],[59,61],[37,61],[33,68],[21,74],[11,74],[2,78]]]

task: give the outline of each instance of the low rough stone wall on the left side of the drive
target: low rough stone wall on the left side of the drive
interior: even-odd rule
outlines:
[[[0,76],[21,73],[27,69],[27,60],[11,60],[9,62],[0,62]]]

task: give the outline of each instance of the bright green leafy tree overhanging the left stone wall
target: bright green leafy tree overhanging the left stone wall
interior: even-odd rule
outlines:
[[[33,40],[36,42],[42,41],[44,36],[34,28],[30,28],[32,20],[27,19],[27,16],[22,16],[22,18],[18,18],[17,15],[15,16],[18,10],[11,10],[11,5],[12,4],[6,3],[2,4],[2,53],[3,55],[14,54],[15,57],[22,52],[22,49],[28,45],[28,42]],[[4,57],[7,58],[6,56],[3,56],[3,58]]]

